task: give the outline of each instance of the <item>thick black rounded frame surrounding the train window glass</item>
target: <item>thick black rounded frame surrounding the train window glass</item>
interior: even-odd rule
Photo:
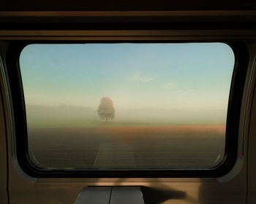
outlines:
[[[238,128],[240,111],[249,54],[244,42],[222,42],[230,46],[235,55],[235,64],[230,85],[230,94],[227,106],[227,122],[225,134],[225,154],[222,162],[214,168],[206,169],[146,169],[146,170],[86,170],[67,169],[52,170],[38,168],[29,159],[29,146],[26,127],[26,108],[23,95],[23,84],[20,74],[20,52],[29,44],[85,44],[85,43],[176,43],[170,40],[125,40],[125,41],[17,41],[12,42],[7,49],[7,77],[9,79],[11,108],[15,130],[16,157],[20,168],[29,176],[36,178],[210,178],[220,177],[228,173],[236,163],[238,154]],[[181,41],[178,43],[187,43]],[[192,41],[194,42],[194,41]],[[200,42],[200,41],[196,41]],[[208,41],[210,42],[210,41]],[[214,41],[213,41],[214,42]]]

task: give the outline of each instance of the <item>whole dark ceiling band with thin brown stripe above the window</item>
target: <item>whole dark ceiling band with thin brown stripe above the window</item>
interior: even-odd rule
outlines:
[[[0,0],[1,30],[255,29],[256,0]]]

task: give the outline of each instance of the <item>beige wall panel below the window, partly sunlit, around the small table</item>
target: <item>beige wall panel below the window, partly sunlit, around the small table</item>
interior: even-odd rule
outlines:
[[[74,203],[86,186],[143,186],[146,204],[243,204],[246,170],[232,181],[207,178],[39,179],[29,182],[10,170],[10,203]]]

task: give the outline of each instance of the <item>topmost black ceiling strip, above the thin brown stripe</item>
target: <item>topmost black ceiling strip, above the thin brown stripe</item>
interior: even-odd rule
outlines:
[[[0,11],[136,11],[253,9],[255,0],[1,0]]]

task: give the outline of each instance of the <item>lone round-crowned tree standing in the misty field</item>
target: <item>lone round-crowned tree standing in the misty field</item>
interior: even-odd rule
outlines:
[[[97,113],[100,119],[104,119],[105,122],[108,122],[110,119],[114,119],[116,111],[110,98],[102,97],[99,103]]]

